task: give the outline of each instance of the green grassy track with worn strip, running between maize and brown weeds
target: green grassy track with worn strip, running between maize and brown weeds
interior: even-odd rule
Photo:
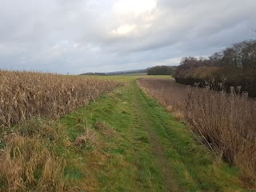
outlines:
[[[238,170],[216,162],[134,79],[61,122],[71,140],[94,136],[66,151],[66,177],[84,191],[243,191]]]

